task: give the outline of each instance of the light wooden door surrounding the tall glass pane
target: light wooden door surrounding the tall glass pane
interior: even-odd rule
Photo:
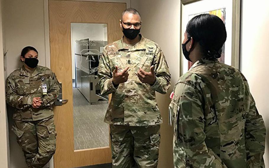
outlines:
[[[111,148],[74,150],[71,23],[107,24],[108,43],[121,38],[119,27],[125,3],[49,0],[51,70],[62,83],[67,104],[54,109],[57,131],[55,168],[111,163]]]

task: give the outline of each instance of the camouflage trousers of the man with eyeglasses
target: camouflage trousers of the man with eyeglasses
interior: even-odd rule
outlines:
[[[113,168],[156,168],[160,125],[110,125]]]

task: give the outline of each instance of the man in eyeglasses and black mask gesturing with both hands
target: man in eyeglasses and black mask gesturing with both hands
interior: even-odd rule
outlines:
[[[110,124],[113,168],[156,168],[162,118],[155,91],[166,94],[171,75],[163,52],[140,33],[136,9],[122,13],[123,38],[107,45],[98,67],[101,94],[112,93]]]

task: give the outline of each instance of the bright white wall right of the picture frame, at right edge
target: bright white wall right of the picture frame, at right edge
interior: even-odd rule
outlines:
[[[257,109],[267,128],[265,164],[269,167],[269,1],[243,0],[240,69],[248,80]]]

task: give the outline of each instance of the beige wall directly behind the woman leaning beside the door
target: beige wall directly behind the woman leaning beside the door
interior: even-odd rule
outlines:
[[[2,0],[3,34],[7,53],[7,75],[19,68],[20,52],[25,46],[38,50],[39,64],[46,65],[43,0]],[[2,45],[1,45],[2,46]],[[2,51],[2,49],[0,49]],[[1,66],[2,67],[2,66]],[[1,80],[2,81],[2,80]],[[2,90],[2,89],[0,89]],[[3,101],[0,101],[2,103]],[[13,109],[7,107],[11,168],[27,167],[16,136],[11,131]],[[1,127],[2,128],[2,127]]]

